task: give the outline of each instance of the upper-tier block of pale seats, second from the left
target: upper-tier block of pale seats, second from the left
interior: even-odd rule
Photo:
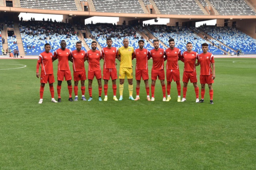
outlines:
[[[138,0],[92,0],[97,12],[144,13]]]

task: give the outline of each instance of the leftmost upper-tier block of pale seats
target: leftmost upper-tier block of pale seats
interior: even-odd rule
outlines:
[[[74,0],[20,0],[22,8],[77,11]]]

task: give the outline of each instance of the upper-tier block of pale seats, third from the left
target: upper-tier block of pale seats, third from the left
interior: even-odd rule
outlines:
[[[162,14],[174,15],[204,15],[194,0],[154,0]]]

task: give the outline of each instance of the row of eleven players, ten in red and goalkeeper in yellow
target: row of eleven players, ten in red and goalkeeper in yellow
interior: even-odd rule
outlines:
[[[93,78],[96,77],[99,88],[99,101],[101,99],[102,92],[102,84],[101,84],[101,66],[100,59],[104,59],[103,64],[103,80],[104,80],[104,93],[105,98],[104,101],[108,100],[107,92],[108,92],[108,81],[112,80],[112,89],[114,93],[113,100],[118,101],[116,97],[116,79],[117,79],[117,70],[116,70],[116,59],[120,61],[119,68],[119,93],[120,100],[123,100],[123,84],[125,81],[125,77],[127,77],[129,83],[129,99],[130,100],[140,100],[140,82],[141,79],[144,80],[145,88],[146,88],[146,100],[155,101],[155,84],[157,77],[161,82],[162,91],[163,91],[163,101],[170,101],[170,91],[171,91],[171,82],[174,80],[177,84],[178,90],[178,102],[186,101],[186,92],[188,82],[190,80],[193,83],[194,90],[196,93],[196,102],[203,103],[204,102],[204,94],[205,94],[205,84],[208,84],[209,87],[209,96],[210,96],[210,104],[213,103],[213,88],[212,83],[214,83],[215,79],[215,63],[214,56],[209,53],[208,44],[203,43],[202,49],[203,53],[197,54],[192,51],[192,43],[188,42],[186,44],[187,51],[181,54],[181,50],[175,47],[174,39],[169,39],[170,48],[164,50],[159,48],[159,40],[153,40],[154,49],[147,50],[144,48],[144,40],[139,40],[138,45],[139,48],[134,50],[133,47],[129,46],[129,40],[127,38],[123,39],[123,46],[117,49],[116,47],[112,47],[111,38],[107,38],[106,43],[107,47],[104,47],[101,51],[97,50],[97,42],[93,41],[91,43],[92,49],[89,51],[81,50],[82,45],[81,42],[76,43],[76,50],[71,51],[66,48],[66,41],[62,40],[60,42],[60,49],[54,51],[54,54],[50,52],[51,45],[46,43],[44,45],[45,51],[41,53],[38,57],[37,61],[37,72],[36,76],[40,77],[40,100],[39,104],[43,101],[43,93],[44,86],[47,82],[49,82],[49,88],[52,96],[52,102],[57,103],[61,102],[61,88],[62,81],[67,81],[68,92],[69,92],[69,101],[73,101],[72,98],[72,76],[68,61],[73,63],[73,78],[74,78],[74,93],[75,99],[74,101],[78,101],[78,82],[81,82],[81,92],[82,92],[82,100],[86,101],[85,98],[85,80],[86,80],[86,71],[84,62],[88,61],[88,91],[89,91],[89,99],[91,101],[92,98],[92,82]],[[133,98],[133,65],[132,60],[136,58],[136,98]],[[149,74],[148,74],[148,59],[152,58],[153,65],[151,69],[151,98],[149,96]],[[58,70],[57,70],[57,94],[58,100],[54,99],[54,88],[53,82],[53,61],[58,59]],[[167,60],[166,63],[166,79],[167,79],[167,88],[165,85],[165,72],[164,72],[164,61]],[[181,99],[181,84],[180,84],[180,74],[179,74],[179,65],[178,60],[184,62],[184,72],[183,72],[183,98]],[[197,62],[196,62],[197,60]],[[39,68],[41,64],[41,75],[39,74]],[[200,84],[201,84],[201,100],[199,100],[199,87],[197,86],[197,75],[196,75],[196,66],[200,65]],[[167,90],[167,97],[166,97]]]

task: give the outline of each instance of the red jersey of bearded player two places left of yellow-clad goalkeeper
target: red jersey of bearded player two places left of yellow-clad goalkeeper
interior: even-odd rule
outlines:
[[[96,50],[93,52],[92,50],[89,50],[87,51],[87,57],[89,60],[88,71],[101,70],[100,69],[101,51]]]

